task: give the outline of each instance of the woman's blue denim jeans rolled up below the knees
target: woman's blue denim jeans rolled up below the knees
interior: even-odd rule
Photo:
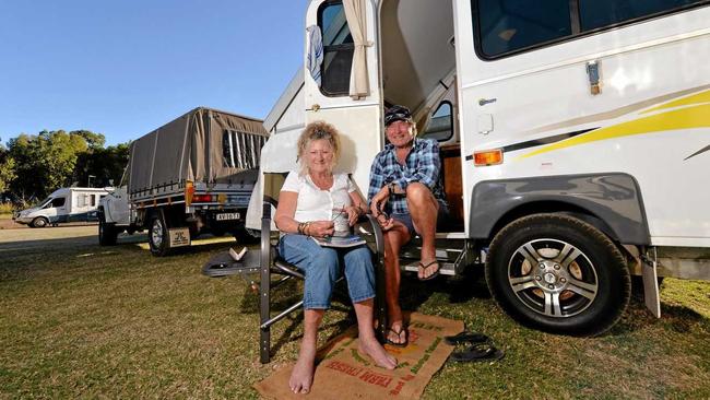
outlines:
[[[304,308],[330,308],[335,281],[345,272],[353,303],[375,297],[375,270],[367,246],[334,249],[320,247],[305,235],[286,234],[279,240],[281,257],[306,274]]]

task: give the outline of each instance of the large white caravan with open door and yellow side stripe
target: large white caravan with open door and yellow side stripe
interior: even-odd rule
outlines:
[[[608,329],[642,275],[658,316],[656,273],[710,278],[709,3],[311,0],[262,169],[326,120],[366,191],[383,109],[406,105],[440,141],[442,273],[485,264],[509,315],[573,334]]]

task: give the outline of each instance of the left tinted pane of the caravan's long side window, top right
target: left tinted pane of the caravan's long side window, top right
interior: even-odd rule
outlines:
[[[478,33],[486,56],[572,34],[569,0],[480,0]]]

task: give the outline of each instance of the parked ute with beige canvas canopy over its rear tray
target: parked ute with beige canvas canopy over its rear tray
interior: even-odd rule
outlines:
[[[121,185],[98,208],[99,244],[146,230],[151,252],[165,256],[202,233],[249,240],[267,138],[261,120],[199,107],[133,141]]]

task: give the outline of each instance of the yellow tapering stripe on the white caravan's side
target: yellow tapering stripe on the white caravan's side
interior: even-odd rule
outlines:
[[[535,150],[528,154],[521,155],[517,160],[528,158],[532,157],[533,155],[551,152],[553,150],[596,142],[600,140],[693,128],[710,128],[710,104],[675,109],[667,113],[656,114],[649,117],[613,125],[606,128],[600,128],[589,133],[580,134],[578,137],[544,146],[540,150]]]

